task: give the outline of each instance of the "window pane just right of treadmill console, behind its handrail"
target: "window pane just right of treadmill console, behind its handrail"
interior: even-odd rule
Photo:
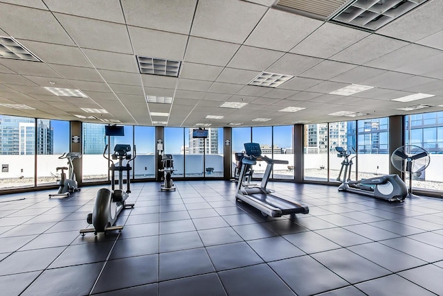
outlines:
[[[273,127],[273,159],[286,160],[288,164],[274,164],[274,179],[293,179],[293,125]]]

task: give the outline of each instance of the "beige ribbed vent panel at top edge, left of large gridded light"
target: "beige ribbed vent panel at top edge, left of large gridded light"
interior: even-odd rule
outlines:
[[[291,8],[300,15],[328,19],[349,0],[280,0],[277,7]]]

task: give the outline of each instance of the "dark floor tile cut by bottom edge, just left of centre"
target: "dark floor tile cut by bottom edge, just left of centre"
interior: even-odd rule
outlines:
[[[185,279],[163,281],[159,284],[159,295],[168,296],[226,296],[217,274],[198,275]]]

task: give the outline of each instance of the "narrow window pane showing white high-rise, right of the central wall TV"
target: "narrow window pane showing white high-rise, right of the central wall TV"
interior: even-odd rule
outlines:
[[[223,177],[223,128],[208,128],[205,177]]]

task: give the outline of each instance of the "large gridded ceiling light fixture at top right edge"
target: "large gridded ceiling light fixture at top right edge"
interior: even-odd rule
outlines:
[[[356,0],[332,21],[375,31],[428,0]]]

